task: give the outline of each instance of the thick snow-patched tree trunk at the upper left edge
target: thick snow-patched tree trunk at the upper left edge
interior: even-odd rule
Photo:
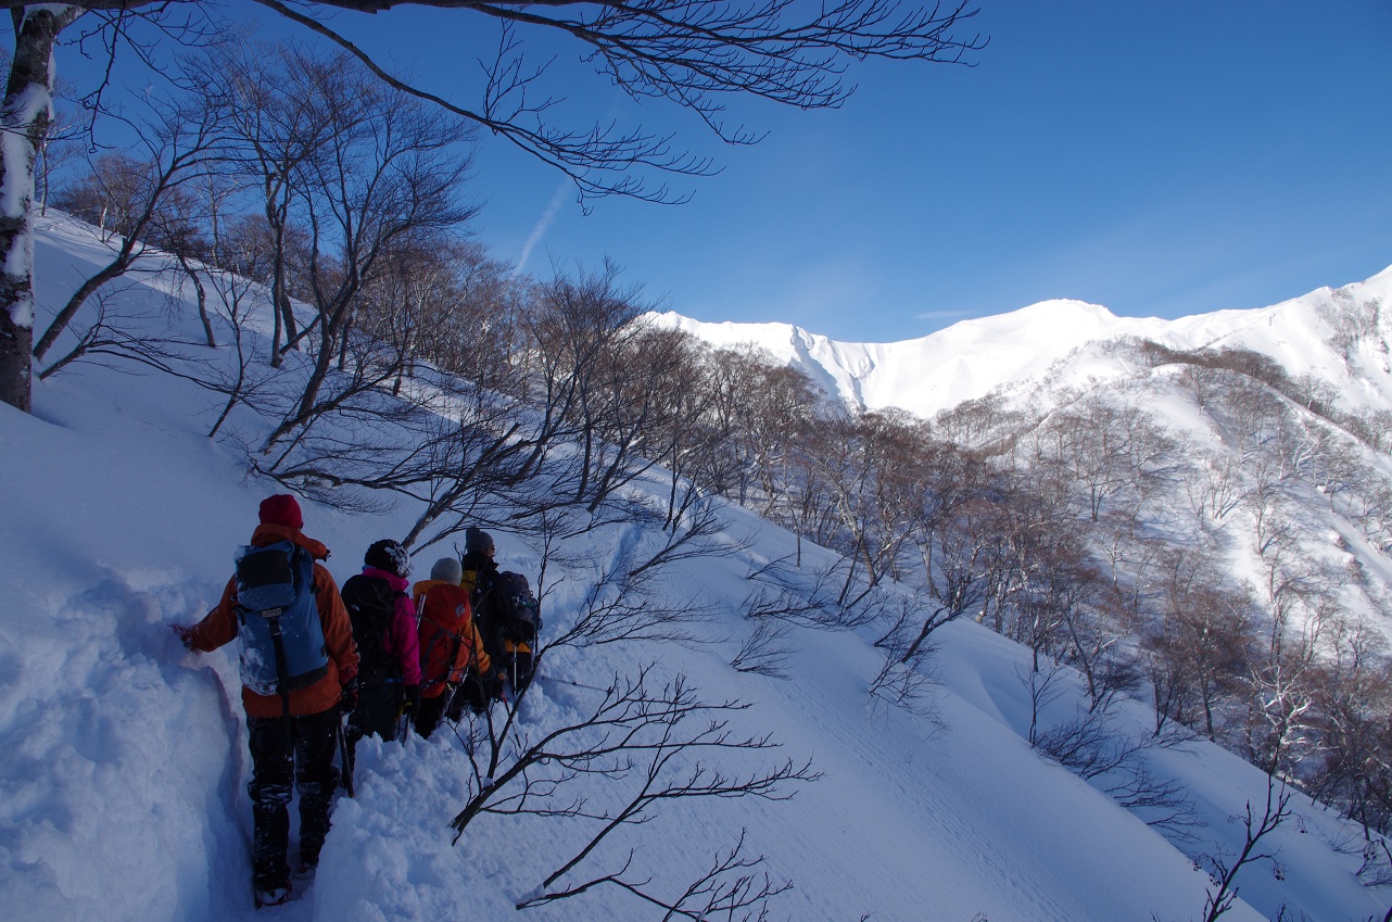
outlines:
[[[0,401],[28,412],[33,372],[33,162],[53,117],[53,43],[84,10],[15,7],[14,60],[0,106]]]

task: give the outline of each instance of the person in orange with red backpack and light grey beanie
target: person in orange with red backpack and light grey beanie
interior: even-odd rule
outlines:
[[[430,578],[412,586],[420,621],[420,708],[416,733],[429,737],[440,726],[450,698],[470,671],[486,688],[494,687],[493,663],[473,623],[469,591],[459,585],[464,570],[443,557]]]

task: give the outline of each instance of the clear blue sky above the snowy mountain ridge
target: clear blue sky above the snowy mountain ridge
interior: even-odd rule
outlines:
[[[1388,0],[981,0],[976,67],[852,68],[839,110],[734,100],[768,136],[715,141],[633,106],[553,45],[575,127],[677,131],[722,171],[681,206],[608,198],[500,141],[477,156],[479,238],[533,273],[608,256],[702,320],[846,341],[926,336],[1045,298],[1175,318],[1256,308],[1392,265]],[[465,103],[493,42],[470,17],[338,25]]]

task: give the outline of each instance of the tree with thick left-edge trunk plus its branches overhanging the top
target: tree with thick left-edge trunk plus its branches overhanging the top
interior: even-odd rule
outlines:
[[[418,86],[372,60],[359,46],[334,31],[334,10],[377,13],[367,0],[326,0],[290,6],[260,4],[335,43],[400,93],[430,102],[448,113],[505,138],[571,177],[580,195],[621,194],[672,201],[665,187],[649,188],[644,170],[700,175],[711,164],[672,148],[667,135],[617,123],[589,130],[553,125],[554,97],[543,88],[547,67],[528,63],[526,38],[565,36],[576,42],[599,77],[633,99],[665,99],[692,110],[720,138],[752,143],[759,135],[722,120],[727,96],[754,96],[799,109],[839,106],[851,86],[842,82],[849,61],[864,58],[966,61],[984,39],[958,36],[973,15],[955,7],[899,8],[892,0],[841,0],[805,7],[775,0],[761,7],[731,7],[715,0],[644,0],[639,4],[561,4],[537,11],[530,4],[503,3],[487,8],[422,0],[418,6],[445,6],[461,21],[472,15],[500,29],[497,54],[473,86],[476,104],[451,102]],[[6,276],[0,280],[0,400],[28,409],[29,351],[32,347],[32,265],[21,259],[32,247],[29,214],[33,199],[33,162],[49,124],[53,93],[53,47],[58,35],[79,18],[89,18],[121,35],[134,17],[159,13],[202,13],[203,4],[111,3],[26,4],[10,0],[15,26],[15,54],[3,107],[3,127],[24,139],[22,155],[7,157],[6,188],[15,189],[17,209],[0,223],[0,252]]]

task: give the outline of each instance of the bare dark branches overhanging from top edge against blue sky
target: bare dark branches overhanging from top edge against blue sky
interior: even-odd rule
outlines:
[[[702,174],[710,164],[675,152],[671,138],[642,130],[622,132],[608,125],[568,131],[547,125],[554,100],[537,92],[547,65],[526,63],[523,33],[551,32],[578,40],[594,70],[629,96],[685,106],[731,143],[752,143],[757,135],[724,121],[721,100],[727,95],[752,95],[802,109],[837,107],[851,92],[841,81],[848,58],[959,63],[984,45],[979,36],[952,35],[954,28],[973,15],[965,4],[901,11],[894,4],[846,0],[803,10],[791,0],[778,0],[745,10],[653,0],[624,7],[604,4],[596,10],[562,6],[537,14],[523,4],[508,3],[482,11],[501,22],[501,39],[486,70],[482,104],[465,107],[418,91],[379,67],[334,32],[316,7],[301,11],[278,0],[262,1],[358,54],[398,89],[430,99],[555,166],[582,194],[617,192],[657,201],[668,199],[667,189],[647,189],[633,174],[635,167]],[[365,7],[359,0],[337,0],[331,6]]]

